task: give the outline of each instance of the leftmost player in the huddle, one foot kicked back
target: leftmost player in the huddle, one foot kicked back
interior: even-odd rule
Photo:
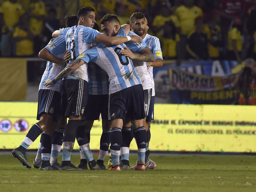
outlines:
[[[72,17],[67,18],[67,24]],[[72,25],[71,25],[72,26]],[[66,50],[64,36],[59,36],[39,52],[39,57],[48,60],[45,72],[39,84],[37,123],[28,131],[21,145],[12,151],[12,155],[19,159],[23,166],[31,168],[26,158],[27,148],[41,135],[42,164],[40,170],[58,170],[50,165],[51,142],[54,130],[65,124],[65,118],[61,116],[61,81],[55,85],[44,86],[47,78],[56,76],[65,67],[67,60],[62,59]],[[58,64],[57,64],[58,63]],[[35,161],[35,160],[34,160]],[[39,165],[37,165],[39,166]]]

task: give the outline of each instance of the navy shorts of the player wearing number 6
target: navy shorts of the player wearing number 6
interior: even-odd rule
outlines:
[[[144,106],[142,85],[128,87],[109,95],[108,119],[121,118],[125,121],[126,116],[130,120],[144,119]]]

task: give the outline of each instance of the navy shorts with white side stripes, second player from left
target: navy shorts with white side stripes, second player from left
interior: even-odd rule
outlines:
[[[65,117],[83,116],[88,101],[88,82],[83,79],[64,79],[62,86]]]

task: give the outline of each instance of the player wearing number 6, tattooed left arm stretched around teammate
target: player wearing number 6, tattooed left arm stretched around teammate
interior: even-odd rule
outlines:
[[[104,31],[104,25],[101,26]],[[119,34],[125,36],[124,29]],[[146,132],[142,119],[145,118],[144,96],[141,81],[133,67],[130,58],[119,51],[125,45],[109,46],[99,44],[81,54],[75,61],[54,79],[48,79],[45,84],[52,84],[62,79],[78,67],[88,62],[95,62],[109,76],[109,120],[111,121],[111,170],[121,170],[119,166],[120,147],[122,144],[122,127],[125,117],[133,122],[138,146],[138,160],[135,169],[145,170]]]

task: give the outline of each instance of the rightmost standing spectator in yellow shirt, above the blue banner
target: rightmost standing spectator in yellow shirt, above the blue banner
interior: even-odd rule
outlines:
[[[239,17],[233,20],[232,28],[228,31],[228,51],[227,60],[236,60],[241,63],[241,51],[242,51],[242,22]]]

